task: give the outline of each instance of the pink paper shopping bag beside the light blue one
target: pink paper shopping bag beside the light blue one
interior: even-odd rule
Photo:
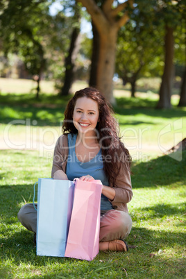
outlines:
[[[65,257],[93,260],[99,253],[100,180],[76,179]]]

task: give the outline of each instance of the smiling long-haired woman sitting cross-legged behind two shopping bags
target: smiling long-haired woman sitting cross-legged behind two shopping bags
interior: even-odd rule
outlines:
[[[117,135],[117,122],[111,112],[95,88],[76,92],[65,110],[63,135],[56,143],[51,176],[62,180],[101,180],[99,249],[128,251],[124,239],[132,227],[126,205],[133,196],[130,155]],[[33,205],[24,207],[19,211],[19,220],[36,233]]]

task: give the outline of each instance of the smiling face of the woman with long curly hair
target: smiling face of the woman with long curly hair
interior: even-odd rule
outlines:
[[[94,136],[98,121],[98,103],[87,97],[78,98],[73,113],[73,122],[78,133]]]

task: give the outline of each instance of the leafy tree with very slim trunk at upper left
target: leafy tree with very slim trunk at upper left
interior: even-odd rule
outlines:
[[[46,73],[57,78],[64,73],[64,60],[69,46],[71,21],[63,11],[51,16],[51,1],[17,0],[1,2],[0,37],[3,40],[3,53],[16,53],[25,64],[28,72],[37,82],[40,92],[40,79]],[[25,20],[26,19],[26,20]],[[47,69],[48,68],[48,69]]]

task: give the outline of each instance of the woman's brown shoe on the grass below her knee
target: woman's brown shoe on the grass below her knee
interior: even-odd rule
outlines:
[[[128,251],[128,245],[122,239],[115,239],[111,242],[99,242],[100,251]]]

